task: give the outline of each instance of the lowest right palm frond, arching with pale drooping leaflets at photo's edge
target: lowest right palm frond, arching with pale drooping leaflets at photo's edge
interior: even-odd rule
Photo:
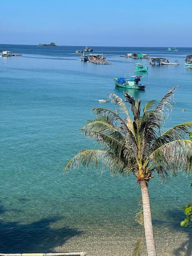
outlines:
[[[174,140],[168,142],[152,152],[149,156],[153,163],[153,168],[157,172],[173,171],[176,176],[179,171],[192,170],[192,141]]]

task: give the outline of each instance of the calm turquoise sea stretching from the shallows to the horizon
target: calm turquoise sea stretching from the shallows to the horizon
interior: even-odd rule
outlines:
[[[164,130],[192,121],[192,70],[184,69],[192,48],[89,46],[110,65],[78,60],[85,46],[0,44],[22,56],[0,57],[0,253],[86,252],[88,256],[130,256],[143,236],[135,221],[141,191],[133,175],[79,167],[64,173],[80,150],[98,148],[80,132],[93,120],[92,108],[107,95],[124,99],[161,98],[174,86],[174,109]],[[1,53],[1,52],[0,52]],[[150,59],[121,57],[144,53],[178,60],[178,66],[150,65]],[[145,90],[118,88],[113,77],[134,75],[136,63]],[[127,103],[128,104],[128,103]],[[192,226],[180,227],[182,207],[192,200],[192,176],[184,172],[148,184],[158,256],[192,255]],[[142,255],[147,255],[145,242]]]

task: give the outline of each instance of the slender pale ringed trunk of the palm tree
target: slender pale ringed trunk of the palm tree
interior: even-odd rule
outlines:
[[[142,203],[143,203],[143,215],[144,215],[144,229],[145,238],[147,244],[148,256],[157,256],[156,246],[153,233],[153,225],[151,218],[151,208],[149,200],[148,186],[145,180],[140,182],[141,193],[142,193]]]

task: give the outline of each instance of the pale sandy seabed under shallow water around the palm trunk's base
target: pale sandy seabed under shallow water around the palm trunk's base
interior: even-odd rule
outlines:
[[[56,252],[86,252],[87,256],[131,256],[136,240],[142,236],[142,228],[133,230],[110,230],[98,228],[86,230],[80,236],[74,236]],[[121,231],[121,232],[120,232]],[[170,232],[166,227],[154,229],[158,256],[192,256],[192,238],[185,232]],[[142,256],[147,256],[146,244],[143,244]]]

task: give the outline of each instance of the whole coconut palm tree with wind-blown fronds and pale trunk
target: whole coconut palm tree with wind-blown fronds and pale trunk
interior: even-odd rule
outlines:
[[[176,86],[177,87],[177,86]],[[95,139],[100,150],[82,150],[67,164],[65,171],[82,164],[95,168],[107,166],[112,174],[134,174],[140,184],[144,214],[144,230],[148,256],[156,256],[152,226],[148,182],[157,172],[162,180],[169,178],[169,171],[176,176],[179,171],[190,172],[192,168],[192,141],[186,134],[192,122],[178,124],[162,133],[168,114],[174,105],[173,87],[158,104],[155,100],[146,103],[141,115],[140,100],[124,93],[129,103],[131,118],[125,102],[116,94],[108,94],[115,110],[94,108],[96,115],[80,129],[88,138]]]

